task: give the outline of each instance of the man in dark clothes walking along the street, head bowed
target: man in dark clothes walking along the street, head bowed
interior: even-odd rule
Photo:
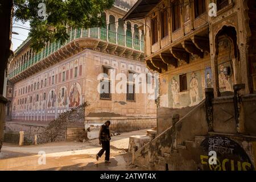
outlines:
[[[109,155],[110,155],[110,131],[109,131],[109,125],[110,121],[106,121],[100,129],[100,132],[98,134],[98,140],[99,144],[102,144],[102,149],[98,152],[96,155],[96,159],[100,158],[102,154],[105,153],[105,163],[110,163],[109,162]]]

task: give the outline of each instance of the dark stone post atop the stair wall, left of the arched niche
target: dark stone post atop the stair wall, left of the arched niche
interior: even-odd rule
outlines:
[[[207,119],[208,131],[213,131],[213,88],[205,88],[205,114]]]

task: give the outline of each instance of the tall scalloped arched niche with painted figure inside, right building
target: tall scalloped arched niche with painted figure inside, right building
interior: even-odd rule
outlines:
[[[220,96],[233,95],[233,85],[241,80],[236,28],[224,26],[215,37],[216,79]]]

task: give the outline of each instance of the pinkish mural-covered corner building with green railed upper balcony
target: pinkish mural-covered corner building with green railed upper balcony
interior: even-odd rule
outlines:
[[[114,76],[150,73],[142,61],[141,22],[123,23],[121,19],[130,7],[130,1],[115,2],[112,9],[102,13],[106,27],[71,28],[65,43],[48,43],[39,53],[29,47],[29,39],[24,42],[9,68],[9,120],[47,123],[88,101],[85,124],[114,119],[115,131],[155,126],[155,101],[148,99],[147,93],[128,97],[125,93],[100,94],[97,90],[104,79],[111,86],[117,84],[110,81],[110,70]],[[99,77],[101,73],[108,76]]]

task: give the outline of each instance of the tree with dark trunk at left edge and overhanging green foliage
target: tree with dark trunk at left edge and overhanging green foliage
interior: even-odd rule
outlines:
[[[104,26],[99,16],[110,9],[114,0],[0,0],[0,106],[5,105],[2,97],[6,90],[7,63],[11,56],[11,23],[13,18],[22,22],[30,21],[31,47],[40,51],[47,42],[68,39],[70,27],[90,28]],[[5,110],[0,110],[0,151],[3,140]]]

